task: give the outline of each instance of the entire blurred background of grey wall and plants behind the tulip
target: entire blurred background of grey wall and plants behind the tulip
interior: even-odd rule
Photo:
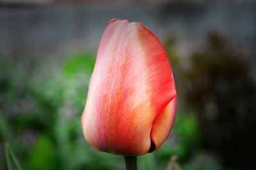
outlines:
[[[256,2],[246,0],[0,0],[0,169],[125,169],[88,146],[80,124],[111,18],[156,34],[177,87],[173,130],[139,169],[166,169],[173,155],[183,170],[255,169]]]

